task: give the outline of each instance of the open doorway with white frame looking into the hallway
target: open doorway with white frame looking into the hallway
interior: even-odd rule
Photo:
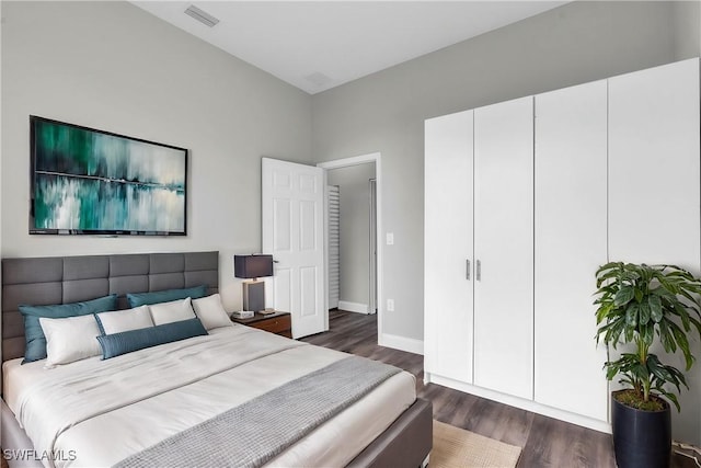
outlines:
[[[342,287],[338,308],[361,313],[377,312],[379,339],[382,335],[380,153],[327,161],[317,165],[325,170],[326,185],[340,186],[341,205],[345,202],[346,207],[349,207],[349,216],[353,217],[353,220],[346,218],[347,210],[341,210],[342,224],[345,219],[349,229],[345,230],[345,236],[342,230],[340,239],[341,251],[344,252],[345,248],[346,254],[341,255]],[[349,251],[352,253],[347,253]]]

